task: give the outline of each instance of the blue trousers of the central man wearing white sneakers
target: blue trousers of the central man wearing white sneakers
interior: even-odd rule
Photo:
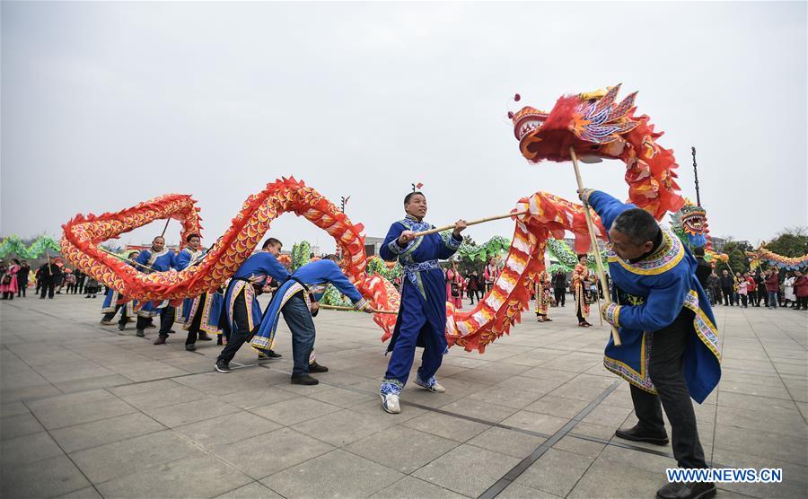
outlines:
[[[412,363],[415,361],[418,333],[425,325],[426,316],[421,311],[410,311],[407,308],[401,311],[399,337],[393,346],[390,362],[387,364],[387,372],[384,374],[385,379],[398,380],[402,386],[407,383],[409,370],[412,369]],[[424,381],[435,376],[435,372],[444,361],[444,349],[436,336],[444,334],[444,331],[425,331],[423,339],[426,346],[421,355],[421,367],[418,368],[418,377]]]

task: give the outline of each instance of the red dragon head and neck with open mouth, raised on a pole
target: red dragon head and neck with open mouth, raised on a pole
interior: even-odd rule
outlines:
[[[648,117],[634,116],[637,92],[616,102],[620,85],[608,91],[566,95],[549,112],[524,107],[508,116],[514,120],[519,149],[530,162],[569,161],[570,147],[582,162],[602,158],[626,163],[628,197],[637,206],[662,219],[684,200],[676,193],[677,168],[672,151],[656,144]]]

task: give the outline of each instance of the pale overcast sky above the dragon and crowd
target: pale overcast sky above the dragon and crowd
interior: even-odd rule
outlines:
[[[209,244],[289,175],[350,196],[371,236],[412,182],[436,225],[539,190],[574,199],[571,163],[525,162],[505,114],[616,83],[639,91],[693,198],[697,147],[713,235],[754,243],[808,223],[804,2],[3,2],[0,235],[56,236],[76,213],[187,193]],[[583,168],[588,187],[626,196],[621,162]],[[271,232],[334,247],[292,214]]]

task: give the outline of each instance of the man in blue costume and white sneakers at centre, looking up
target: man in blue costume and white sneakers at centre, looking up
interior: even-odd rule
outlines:
[[[392,355],[381,390],[382,408],[391,414],[401,412],[399,395],[415,360],[416,346],[424,347],[416,384],[436,393],[446,391],[435,381],[435,372],[449,348],[446,343],[446,281],[438,259],[450,258],[460,248],[461,231],[466,228],[466,221],[458,220],[448,237],[441,234],[416,237],[416,232],[433,228],[424,222],[426,197],[420,192],[411,192],[404,198],[404,211],[407,216],[391,225],[380,250],[387,261],[398,258],[405,273],[399,318],[387,347]]]

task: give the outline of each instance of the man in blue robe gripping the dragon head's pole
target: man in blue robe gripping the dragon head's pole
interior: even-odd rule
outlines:
[[[604,364],[631,383],[637,425],[615,434],[665,445],[662,408],[671,422],[672,450],[681,468],[707,468],[690,398],[704,401],[721,378],[716,320],[696,277],[696,259],[651,214],[610,195],[584,189],[582,199],[609,231],[614,302],[603,318],[619,328]],[[662,404],[660,404],[660,402]],[[711,497],[711,483],[669,483],[657,497]]]

